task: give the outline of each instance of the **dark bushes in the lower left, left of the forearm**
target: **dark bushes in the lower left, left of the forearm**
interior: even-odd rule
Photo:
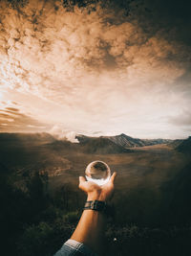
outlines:
[[[16,188],[1,170],[2,255],[53,255],[78,219],[74,195],[62,187],[50,196],[47,175],[34,173],[24,179],[24,186]]]

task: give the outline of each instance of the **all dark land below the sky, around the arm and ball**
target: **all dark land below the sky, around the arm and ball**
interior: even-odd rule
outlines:
[[[191,255],[190,138],[125,147],[121,135],[72,144],[0,134],[2,255],[53,255],[70,238],[85,200],[78,175],[96,159],[117,171],[105,255]]]

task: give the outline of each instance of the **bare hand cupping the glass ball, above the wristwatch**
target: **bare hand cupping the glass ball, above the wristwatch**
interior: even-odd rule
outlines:
[[[87,194],[87,200],[107,201],[112,198],[114,193],[114,180],[116,175],[117,173],[115,172],[110,180],[102,186],[92,181],[87,181],[84,176],[79,176],[79,189]]]

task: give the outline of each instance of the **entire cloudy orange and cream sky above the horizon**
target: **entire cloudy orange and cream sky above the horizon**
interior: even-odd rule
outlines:
[[[0,132],[191,134],[188,1],[0,2]]]

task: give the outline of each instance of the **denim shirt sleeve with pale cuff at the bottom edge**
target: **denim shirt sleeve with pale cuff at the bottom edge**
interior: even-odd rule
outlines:
[[[98,256],[86,245],[69,239],[53,256]]]

